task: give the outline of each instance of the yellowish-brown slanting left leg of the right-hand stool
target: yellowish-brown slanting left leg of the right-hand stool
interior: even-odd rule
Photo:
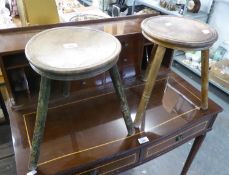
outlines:
[[[134,121],[134,125],[136,128],[139,128],[141,125],[142,116],[144,115],[147,104],[149,102],[150,95],[153,90],[153,87],[154,87],[154,84],[157,78],[157,74],[160,69],[162,59],[165,54],[165,50],[166,48],[158,45],[155,57],[151,58],[152,63],[148,65],[150,66],[150,69],[147,75],[147,81],[146,81],[145,88],[144,88],[144,91],[141,97],[141,101],[138,105],[138,110],[137,110],[137,114],[136,114],[135,121]]]

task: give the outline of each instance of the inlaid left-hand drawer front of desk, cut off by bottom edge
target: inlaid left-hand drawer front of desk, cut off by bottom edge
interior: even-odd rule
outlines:
[[[102,174],[116,174],[119,170],[133,166],[138,162],[139,153],[135,152],[125,157],[106,161],[97,165],[95,168],[81,171],[75,175],[102,175]]]

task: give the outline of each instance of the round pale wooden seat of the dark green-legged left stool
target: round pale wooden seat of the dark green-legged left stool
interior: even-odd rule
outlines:
[[[35,35],[25,54],[33,69],[51,79],[78,80],[109,70],[118,60],[120,42],[89,28],[59,27]]]

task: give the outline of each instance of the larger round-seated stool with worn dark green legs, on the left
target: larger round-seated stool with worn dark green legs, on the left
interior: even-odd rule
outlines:
[[[133,122],[116,65],[120,51],[121,44],[114,36],[102,31],[79,27],[45,30],[29,40],[25,48],[26,57],[31,67],[41,75],[29,164],[31,171],[37,168],[39,159],[51,79],[79,80],[109,70],[121,103],[128,135],[134,133]]]

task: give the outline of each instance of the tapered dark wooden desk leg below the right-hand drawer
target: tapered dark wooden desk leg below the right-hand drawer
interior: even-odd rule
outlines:
[[[198,150],[200,149],[200,146],[202,145],[204,139],[206,137],[206,134],[204,135],[201,135],[201,136],[198,136],[195,138],[195,141],[192,145],[192,148],[191,148],[191,151],[189,152],[189,155],[188,155],[188,158],[184,164],[184,167],[183,167],[183,170],[181,172],[181,175],[186,175],[191,164],[192,164],[192,161],[194,160]]]

